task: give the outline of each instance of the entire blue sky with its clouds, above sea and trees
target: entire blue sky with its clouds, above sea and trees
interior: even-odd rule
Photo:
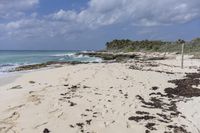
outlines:
[[[0,0],[0,50],[97,50],[200,37],[200,0]]]

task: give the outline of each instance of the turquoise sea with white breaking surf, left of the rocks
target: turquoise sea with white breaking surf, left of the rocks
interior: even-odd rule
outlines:
[[[101,59],[76,55],[79,51],[0,51],[0,73],[17,66],[45,63],[48,61],[100,62]]]

